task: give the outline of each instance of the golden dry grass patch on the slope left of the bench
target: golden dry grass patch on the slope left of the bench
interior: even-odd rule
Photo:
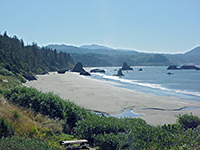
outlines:
[[[15,128],[15,135],[39,138],[51,146],[63,148],[61,140],[73,140],[72,135],[62,133],[63,120],[53,120],[28,109],[19,108],[0,97],[0,118],[5,118]]]

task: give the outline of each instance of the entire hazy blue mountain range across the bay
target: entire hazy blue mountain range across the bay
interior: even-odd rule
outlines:
[[[83,45],[80,47],[50,44],[48,48],[70,53],[74,62],[84,66],[121,66],[129,65],[167,66],[167,65],[200,65],[200,46],[184,54],[142,53],[135,50],[113,49],[103,45]]]

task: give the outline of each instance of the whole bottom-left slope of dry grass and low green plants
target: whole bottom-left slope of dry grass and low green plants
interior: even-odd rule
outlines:
[[[0,97],[0,149],[62,149],[59,141],[72,140],[63,133],[65,120],[51,119]],[[13,137],[14,135],[14,137]],[[1,139],[2,138],[2,139]],[[41,146],[41,148],[40,148]]]

